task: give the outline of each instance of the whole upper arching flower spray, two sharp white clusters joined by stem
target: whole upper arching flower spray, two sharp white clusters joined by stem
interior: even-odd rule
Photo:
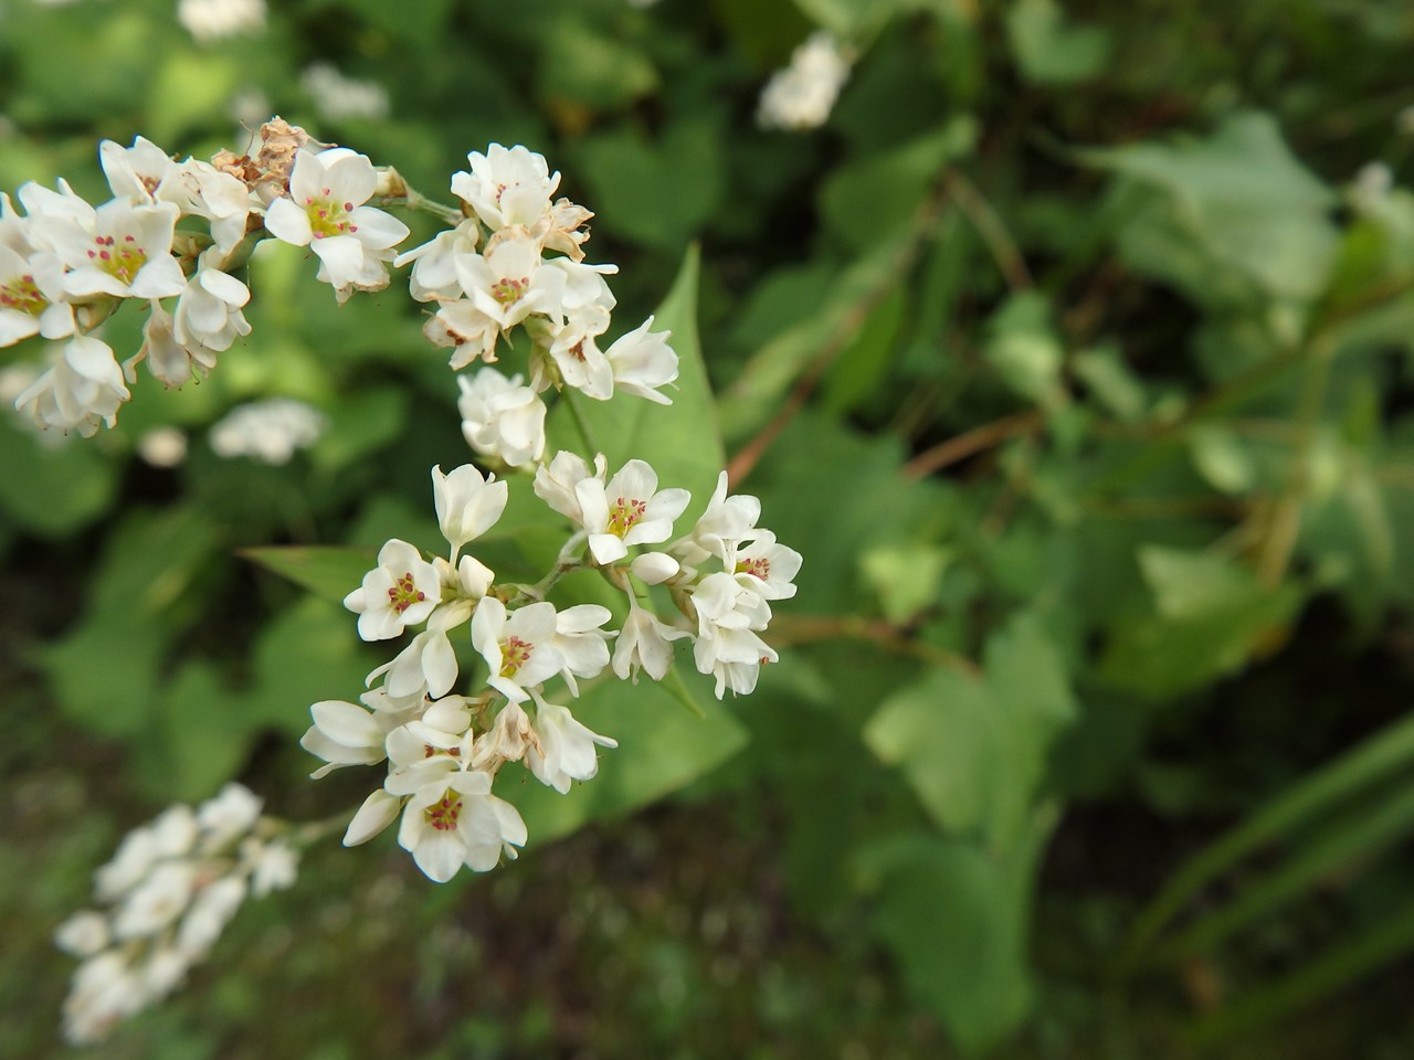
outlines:
[[[523,328],[526,373],[508,379],[482,367],[458,379],[467,441],[492,461],[540,461],[540,394],[550,387],[670,403],[662,389],[677,379],[677,355],[652,318],[600,348],[615,305],[604,277],[618,267],[584,263],[594,215],[553,198],[560,174],[542,155],[501,144],[469,154],[469,171],[451,179],[458,211],[280,119],[262,126],[259,143],[255,157],[222,151],[211,163],[178,163],[141,137],[129,148],[105,141],[110,202],[95,208],[62,181],[58,191],[31,182],[18,191],[21,216],[0,195],[0,345],[52,341],[49,369],[16,401],[40,427],[85,435],[112,427],[143,360],[168,387],[205,377],[250,332],[250,291],[235,273],[266,237],[308,247],[341,302],[385,288],[390,263],[411,263],[413,297],[436,305],[424,332],[452,349],[454,370],[489,366],[502,338]],[[368,205],[375,195],[452,228],[399,256],[409,229]],[[209,235],[177,228],[191,218]],[[148,318],[141,349],[120,366],[99,329],[127,300],[144,302]]]

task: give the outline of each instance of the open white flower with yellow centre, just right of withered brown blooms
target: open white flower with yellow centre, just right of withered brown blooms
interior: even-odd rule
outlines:
[[[290,175],[290,198],[266,211],[266,230],[294,246],[308,246],[320,257],[318,278],[332,284],[339,301],[352,291],[387,285],[393,247],[407,239],[407,226],[375,206],[365,206],[378,189],[368,155],[346,147],[320,154],[301,150]]]

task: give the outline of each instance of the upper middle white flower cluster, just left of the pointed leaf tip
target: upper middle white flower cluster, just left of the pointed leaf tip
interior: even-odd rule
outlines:
[[[544,404],[537,394],[551,386],[598,401],[626,391],[669,404],[660,390],[677,379],[677,355],[667,332],[650,331],[652,318],[600,349],[615,305],[604,277],[618,266],[584,263],[584,223],[594,215],[553,199],[560,174],[525,147],[492,144],[467,160],[469,172],[451,181],[465,219],[396,263],[414,263],[413,297],[437,305],[424,334],[452,349],[454,369],[493,363],[512,328],[532,339],[529,386],[493,369],[458,380],[471,447],[509,466],[539,461]]]

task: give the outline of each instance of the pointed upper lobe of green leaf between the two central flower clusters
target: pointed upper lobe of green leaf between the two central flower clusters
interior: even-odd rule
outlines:
[[[660,489],[679,486],[693,495],[697,510],[707,503],[717,476],[725,466],[717,413],[707,369],[697,339],[697,277],[700,254],[687,252],[667,298],[653,315],[653,331],[670,331],[669,345],[677,353],[676,390],[667,387],[670,406],[632,394],[609,401],[592,401],[566,389],[547,423],[549,451],[573,449],[584,454],[592,445],[608,458],[609,475],[625,461],[643,459],[658,472]],[[571,413],[578,414],[575,417]],[[584,424],[584,431],[580,428]],[[583,435],[588,434],[585,440]],[[690,507],[689,512],[693,509]]]

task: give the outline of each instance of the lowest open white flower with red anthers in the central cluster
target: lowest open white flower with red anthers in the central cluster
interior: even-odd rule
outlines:
[[[509,803],[491,794],[488,773],[450,773],[407,800],[397,830],[399,845],[428,879],[445,883],[467,865],[493,869],[502,852],[526,841],[525,821]]]

